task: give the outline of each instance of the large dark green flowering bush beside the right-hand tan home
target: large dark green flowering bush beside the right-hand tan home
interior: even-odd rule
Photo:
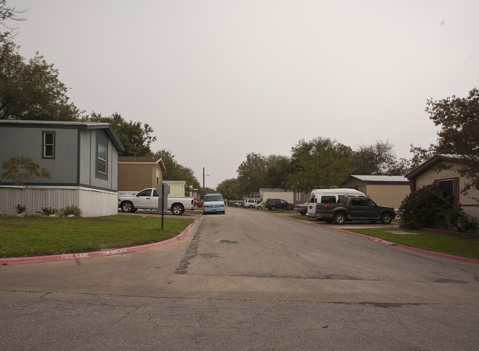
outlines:
[[[444,191],[434,184],[409,194],[399,207],[401,222],[414,228],[440,228],[458,232],[478,229],[478,220],[466,215],[460,204],[455,208]]]

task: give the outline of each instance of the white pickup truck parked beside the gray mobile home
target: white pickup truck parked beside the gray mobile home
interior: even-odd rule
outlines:
[[[118,196],[118,207],[123,212],[135,212],[138,209],[158,210],[156,189],[148,188],[133,194]],[[182,215],[185,210],[194,210],[193,197],[168,197],[168,208],[173,215]]]

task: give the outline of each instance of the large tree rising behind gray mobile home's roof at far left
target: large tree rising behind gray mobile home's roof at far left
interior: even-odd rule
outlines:
[[[79,120],[58,70],[37,52],[28,62],[13,42],[0,46],[0,119]]]

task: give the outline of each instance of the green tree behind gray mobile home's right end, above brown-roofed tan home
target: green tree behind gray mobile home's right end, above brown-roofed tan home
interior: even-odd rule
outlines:
[[[153,128],[147,123],[142,126],[141,122],[126,122],[118,113],[109,117],[102,117],[102,114],[92,112],[87,118],[90,122],[109,123],[115,131],[118,139],[122,143],[125,151],[119,153],[120,156],[151,156],[150,144],[156,140],[152,135]]]

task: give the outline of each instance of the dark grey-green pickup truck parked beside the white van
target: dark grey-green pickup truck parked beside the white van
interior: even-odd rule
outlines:
[[[379,206],[373,200],[363,196],[344,196],[335,204],[316,204],[316,218],[326,222],[344,224],[346,221],[368,220],[390,224],[396,213],[394,208]]]

